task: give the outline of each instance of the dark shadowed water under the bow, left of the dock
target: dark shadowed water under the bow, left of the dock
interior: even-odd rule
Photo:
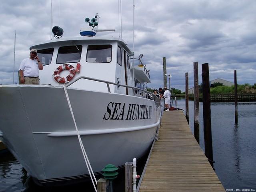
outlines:
[[[137,160],[137,174],[141,175],[147,155]],[[131,159],[132,161],[132,159]],[[113,191],[124,191],[124,168],[118,169],[118,177],[113,181]],[[100,176],[103,178],[103,176]],[[96,177],[98,180],[99,178]],[[137,184],[138,184],[137,180]],[[16,158],[10,153],[0,153],[0,192],[94,192],[92,182],[73,184],[62,187],[42,187],[36,185]]]

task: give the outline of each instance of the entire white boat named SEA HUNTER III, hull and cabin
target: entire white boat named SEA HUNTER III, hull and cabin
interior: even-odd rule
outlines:
[[[56,39],[30,47],[44,65],[40,85],[0,85],[2,141],[43,186],[89,178],[81,142],[95,175],[141,158],[162,115],[145,90],[148,70],[124,40],[98,37],[93,26],[74,38],[52,31]]]

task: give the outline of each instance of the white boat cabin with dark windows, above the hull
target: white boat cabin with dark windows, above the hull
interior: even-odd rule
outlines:
[[[40,71],[40,84],[61,85],[62,83],[54,78],[54,72],[58,71],[58,67],[68,64],[76,68],[80,64],[80,72],[76,70],[74,77],[69,76],[71,69],[64,69],[60,72],[60,77],[69,76],[65,79],[66,82],[86,76],[133,86],[133,54],[122,39],[98,37],[56,39],[31,46],[30,49],[32,48],[38,50],[38,57],[44,65],[44,69]],[[150,82],[150,76],[140,59],[135,59],[134,74],[135,87],[144,90],[144,84]],[[70,87],[108,92],[106,83],[87,79],[77,80]],[[112,84],[110,91],[134,95],[131,88]],[[136,90],[135,95],[145,97],[145,93],[140,90]]]

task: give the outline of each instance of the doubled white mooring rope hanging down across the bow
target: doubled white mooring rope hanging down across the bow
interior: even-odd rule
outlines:
[[[96,181],[96,178],[95,178],[95,176],[94,176],[94,172],[93,172],[93,170],[92,170],[92,166],[91,166],[91,164],[90,164],[90,162],[89,162],[88,156],[87,156],[87,154],[86,154],[86,152],[85,152],[84,145],[83,145],[83,142],[82,142],[82,140],[81,140],[81,136],[80,136],[80,134],[79,134],[79,132],[78,132],[78,128],[77,128],[77,126],[76,126],[76,120],[75,120],[74,113],[73,113],[73,110],[72,110],[72,107],[71,107],[71,104],[70,104],[70,100],[69,100],[69,97],[68,97],[68,92],[67,92],[66,87],[65,87],[64,85],[62,85],[62,86],[63,86],[63,88],[64,88],[64,92],[65,92],[65,94],[66,94],[66,98],[67,98],[67,101],[68,101],[68,106],[69,106],[69,109],[70,109],[70,112],[71,112],[71,115],[72,115],[72,118],[73,118],[73,121],[74,121],[74,124],[75,124],[75,127],[76,127],[76,133],[77,133],[78,141],[79,141],[79,144],[80,144],[80,147],[81,147],[83,156],[84,156],[84,161],[85,161],[85,163],[86,163],[88,172],[89,172],[89,174],[90,174],[90,178],[91,178],[91,180],[92,180],[92,184],[93,184],[93,186],[94,186],[94,190],[97,192],[96,186],[95,186],[95,184],[94,184],[94,182],[97,184],[97,181]],[[93,178],[92,178],[92,175],[93,175],[94,180],[93,180]]]

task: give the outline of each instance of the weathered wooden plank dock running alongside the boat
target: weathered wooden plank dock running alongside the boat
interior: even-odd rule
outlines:
[[[142,177],[139,192],[225,191],[182,111],[164,112]]]

